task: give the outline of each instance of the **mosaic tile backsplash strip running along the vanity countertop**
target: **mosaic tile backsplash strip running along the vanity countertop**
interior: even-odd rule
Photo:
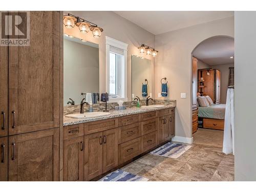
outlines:
[[[176,100],[153,100],[150,101],[150,104],[168,104],[168,103],[176,103]],[[134,108],[137,105],[137,101],[127,101],[123,102],[123,105],[126,108]],[[146,100],[140,100],[140,105],[146,105]],[[115,106],[118,106],[118,103],[112,102],[107,103],[106,109],[115,110]],[[105,109],[105,103],[97,103],[93,104],[93,111],[103,111]],[[84,105],[84,112],[89,110],[89,105]],[[72,113],[80,113],[80,104],[77,105],[66,105],[63,107],[63,115],[69,115]]]

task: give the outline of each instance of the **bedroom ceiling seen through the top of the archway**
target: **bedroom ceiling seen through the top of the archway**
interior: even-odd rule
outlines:
[[[193,56],[208,65],[233,63],[234,39],[226,36],[210,37],[199,44],[193,51]]]

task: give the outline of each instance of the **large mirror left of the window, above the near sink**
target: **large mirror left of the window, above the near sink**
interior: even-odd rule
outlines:
[[[80,104],[83,98],[97,103],[99,93],[99,46],[89,41],[63,39],[63,104]],[[81,94],[83,93],[83,94]]]

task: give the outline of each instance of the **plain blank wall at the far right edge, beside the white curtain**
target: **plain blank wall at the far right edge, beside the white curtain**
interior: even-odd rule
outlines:
[[[256,12],[234,20],[234,180],[256,181]]]

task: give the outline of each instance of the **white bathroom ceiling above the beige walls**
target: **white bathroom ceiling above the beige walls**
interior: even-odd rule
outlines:
[[[234,15],[233,11],[114,12],[155,35]]]

